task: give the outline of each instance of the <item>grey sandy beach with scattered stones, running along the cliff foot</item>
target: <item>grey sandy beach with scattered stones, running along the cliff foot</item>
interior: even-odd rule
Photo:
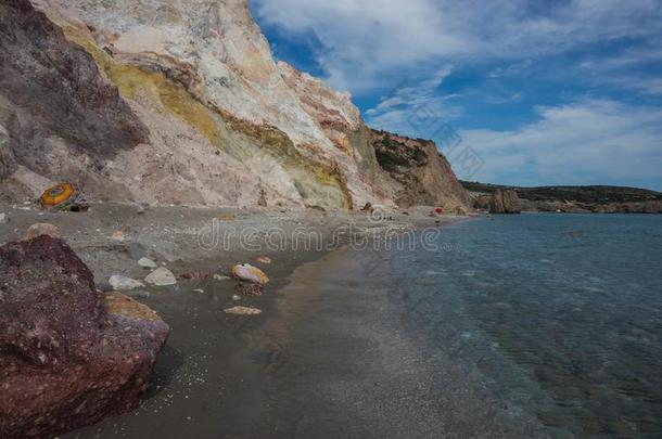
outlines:
[[[273,323],[289,324],[279,310],[289,306],[281,292],[292,283],[293,273],[307,263],[323,263],[338,248],[366,246],[370,242],[366,240],[374,238],[375,231],[385,230],[391,236],[438,229],[440,224],[443,228],[463,219],[432,218],[430,209],[412,209],[407,215],[394,209],[371,216],[315,209],[145,208],[117,204],[93,204],[89,212],[79,214],[48,212],[33,205],[2,206],[0,211],[10,218],[0,224],[0,242],[22,238],[33,223],[52,223],[90,267],[100,289],[110,288],[107,280],[113,274],[142,281],[150,271],[138,266],[140,257],[152,258],[178,276],[190,272],[225,276],[232,264],[249,262],[271,279],[259,297],[242,296],[234,280],[214,277],[179,279],[170,287],[145,286],[126,292],[170,325],[168,343],[140,409],[66,436],[72,438],[140,437],[153,431],[167,437],[181,426],[186,427],[181,431],[194,431],[194,437],[201,438],[218,437],[219,431],[251,436],[246,432],[253,431],[255,425],[264,425],[262,410],[268,399],[265,371],[278,351]],[[295,241],[283,241],[281,246],[265,241],[275,231],[279,236],[292,236],[302,230],[314,240],[308,248]],[[208,240],[209,233],[222,235],[228,231],[237,233],[226,236],[227,241],[224,236]],[[242,231],[247,232],[242,235]],[[206,236],[202,244],[201,235]],[[246,236],[256,238],[246,241]],[[354,241],[357,236],[360,241]],[[323,245],[318,247],[315,240]],[[298,248],[294,248],[295,243]],[[267,256],[271,263],[258,262],[259,256]],[[237,295],[239,300],[233,299]],[[263,314],[224,313],[233,306],[254,307]],[[212,418],[232,422],[215,426]]]

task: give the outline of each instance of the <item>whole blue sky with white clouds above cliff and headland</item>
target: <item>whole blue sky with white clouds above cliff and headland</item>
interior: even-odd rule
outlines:
[[[662,0],[251,0],[275,57],[458,177],[662,191]]]

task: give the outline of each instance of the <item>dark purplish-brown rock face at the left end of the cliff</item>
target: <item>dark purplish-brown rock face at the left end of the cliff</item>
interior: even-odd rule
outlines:
[[[98,170],[147,139],[87,52],[29,2],[0,4],[0,178],[12,177],[3,189]]]

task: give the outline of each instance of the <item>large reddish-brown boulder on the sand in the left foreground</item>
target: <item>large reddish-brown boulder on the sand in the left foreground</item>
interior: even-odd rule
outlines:
[[[0,247],[0,437],[53,437],[138,406],[169,327],[48,235]]]

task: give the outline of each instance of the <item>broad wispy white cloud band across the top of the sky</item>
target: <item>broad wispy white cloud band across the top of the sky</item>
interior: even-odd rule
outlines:
[[[253,0],[263,23],[322,47],[336,88],[364,92],[453,62],[525,59],[660,36],[659,0]],[[497,72],[498,74],[498,72]]]

